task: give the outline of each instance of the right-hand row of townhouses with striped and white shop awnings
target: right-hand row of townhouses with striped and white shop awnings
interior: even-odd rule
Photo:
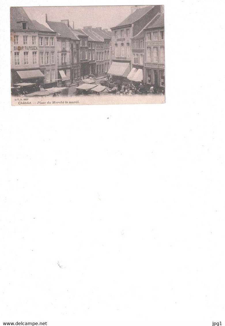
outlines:
[[[109,73],[149,86],[165,86],[164,8],[135,6],[112,27],[112,65]]]

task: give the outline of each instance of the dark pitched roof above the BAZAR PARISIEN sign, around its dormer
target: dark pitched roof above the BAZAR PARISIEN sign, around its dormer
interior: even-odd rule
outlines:
[[[22,31],[21,21],[27,22],[28,30],[35,30],[35,26],[27,16],[23,7],[10,7],[10,29]]]

